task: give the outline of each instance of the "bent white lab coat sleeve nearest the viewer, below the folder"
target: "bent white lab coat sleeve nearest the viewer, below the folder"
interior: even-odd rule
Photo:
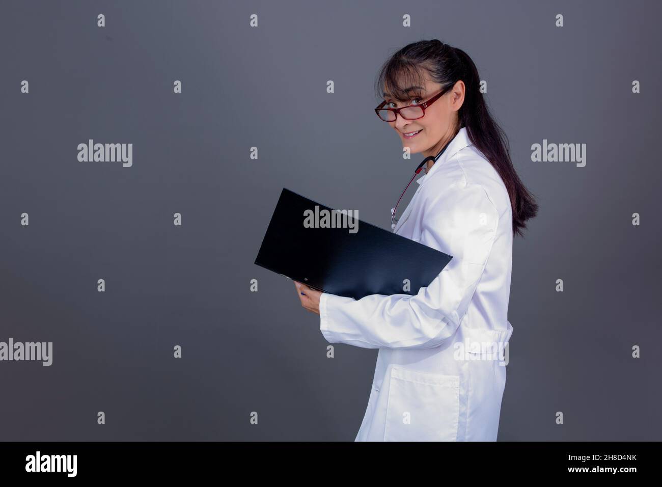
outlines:
[[[418,294],[361,299],[322,293],[320,331],[365,349],[429,349],[453,337],[481,279],[498,228],[485,188],[451,186],[424,205],[420,243],[453,256]]]

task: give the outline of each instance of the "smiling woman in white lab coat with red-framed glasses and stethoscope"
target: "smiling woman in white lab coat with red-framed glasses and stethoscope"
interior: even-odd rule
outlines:
[[[512,334],[512,239],[538,205],[479,80],[465,52],[422,40],[396,52],[377,83],[377,115],[403,146],[432,158],[394,229],[453,256],[430,286],[355,300],[295,282],[327,341],[379,349],[355,441],[496,441]]]

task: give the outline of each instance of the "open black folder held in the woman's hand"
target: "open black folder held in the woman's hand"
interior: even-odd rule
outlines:
[[[338,215],[324,221],[317,217],[323,210]],[[283,188],[255,263],[311,288],[361,299],[369,294],[414,296],[453,258],[355,216]]]

